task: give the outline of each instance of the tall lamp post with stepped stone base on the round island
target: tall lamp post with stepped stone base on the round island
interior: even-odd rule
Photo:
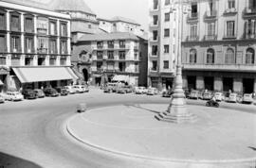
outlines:
[[[179,1],[179,0],[177,0]],[[185,94],[183,91],[182,82],[182,63],[181,63],[181,42],[182,42],[182,28],[183,28],[183,13],[188,12],[189,8],[184,8],[184,4],[187,2],[176,2],[171,8],[171,12],[178,8],[178,52],[177,52],[177,64],[176,64],[176,76],[174,78],[174,94],[171,98],[171,103],[165,112],[162,112],[155,116],[159,121],[166,121],[172,123],[192,123],[196,117],[187,109]]]

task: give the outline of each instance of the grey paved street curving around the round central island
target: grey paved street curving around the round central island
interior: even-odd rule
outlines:
[[[112,167],[110,157],[66,138],[64,121],[75,113],[78,103],[89,108],[118,104],[168,103],[160,95],[108,94],[91,89],[65,97],[6,102],[0,105],[0,165],[4,167]],[[205,101],[189,100],[204,106]],[[221,107],[255,112],[253,105],[221,103]],[[115,165],[129,160],[115,159]],[[103,165],[102,165],[103,163]],[[133,167],[131,165],[131,167]]]

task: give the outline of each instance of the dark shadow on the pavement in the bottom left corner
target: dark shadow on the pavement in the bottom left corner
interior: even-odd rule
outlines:
[[[23,160],[0,152],[0,168],[43,168],[28,160]]]

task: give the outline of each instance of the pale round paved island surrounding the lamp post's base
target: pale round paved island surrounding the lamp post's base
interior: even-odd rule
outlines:
[[[67,120],[66,129],[95,150],[165,166],[256,166],[255,114],[189,105],[198,117],[195,124],[155,120],[155,114],[167,107],[138,104],[90,109]]]

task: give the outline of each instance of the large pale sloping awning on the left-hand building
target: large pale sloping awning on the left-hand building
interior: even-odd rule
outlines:
[[[21,83],[78,79],[69,67],[12,68]]]

